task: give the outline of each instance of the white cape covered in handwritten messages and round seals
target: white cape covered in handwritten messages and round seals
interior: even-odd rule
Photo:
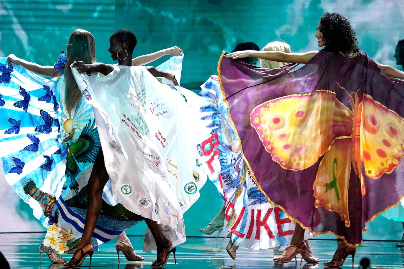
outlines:
[[[114,198],[161,224],[174,246],[181,244],[183,212],[198,199],[210,173],[208,165],[195,165],[197,145],[210,134],[198,127],[184,89],[159,83],[144,67],[116,65],[98,80],[72,72],[93,106]],[[144,250],[155,249],[147,233]]]

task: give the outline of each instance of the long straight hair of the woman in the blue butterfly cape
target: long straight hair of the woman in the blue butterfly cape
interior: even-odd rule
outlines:
[[[95,63],[95,38],[84,29],[76,29],[72,32],[67,42],[66,49],[67,62],[64,76],[66,81],[66,110],[73,113],[81,100],[81,92],[73,77],[70,65],[74,61],[83,61],[84,63]]]

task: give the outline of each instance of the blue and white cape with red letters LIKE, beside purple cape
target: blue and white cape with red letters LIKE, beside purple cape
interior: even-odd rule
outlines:
[[[219,79],[213,75],[201,88],[201,120],[219,138],[221,167],[218,176],[209,179],[225,196],[226,227],[233,234],[233,244],[252,250],[288,245],[295,224],[282,209],[269,203],[251,176],[229,121],[229,108],[223,102]]]

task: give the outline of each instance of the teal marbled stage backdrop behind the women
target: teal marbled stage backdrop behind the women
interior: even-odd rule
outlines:
[[[358,32],[360,48],[376,61],[393,67],[394,49],[404,38],[403,0],[1,0],[0,56],[10,53],[41,65],[53,65],[66,49],[69,34],[83,28],[95,36],[97,60],[112,63],[109,36],[120,28],[137,35],[134,54],[179,46],[185,53],[181,85],[198,89],[217,73],[222,50],[252,41],[260,48],[284,40],[292,51],[316,50],[317,23],[324,12],[339,12]],[[165,56],[151,65],[157,66]],[[4,178],[0,176],[0,212],[10,221],[4,231],[44,231]],[[383,199],[383,197],[380,197]],[[185,213],[188,236],[202,235],[223,200],[207,182],[201,198]],[[137,225],[128,234],[143,234]],[[378,217],[365,239],[398,239],[402,224]],[[223,231],[225,234],[225,231]],[[330,237],[332,238],[332,237]]]

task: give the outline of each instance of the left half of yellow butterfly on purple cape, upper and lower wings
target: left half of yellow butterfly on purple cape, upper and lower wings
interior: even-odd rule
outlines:
[[[313,186],[315,206],[338,212],[349,225],[351,111],[335,93],[317,90],[270,100],[254,108],[250,121],[284,169],[306,169],[325,154]]]

